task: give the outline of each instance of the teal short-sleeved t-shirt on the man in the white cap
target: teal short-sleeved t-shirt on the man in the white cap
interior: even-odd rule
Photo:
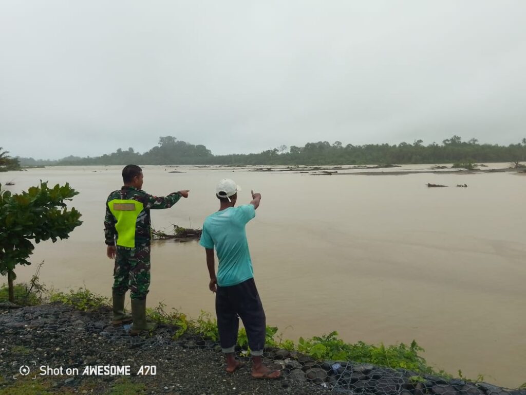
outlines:
[[[205,219],[199,244],[216,248],[219,287],[230,287],[254,277],[245,225],[255,216],[254,205],[246,204],[215,212]]]

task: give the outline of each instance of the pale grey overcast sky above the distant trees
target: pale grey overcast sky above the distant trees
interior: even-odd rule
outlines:
[[[522,0],[0,1],[13,156],[526,136]]]

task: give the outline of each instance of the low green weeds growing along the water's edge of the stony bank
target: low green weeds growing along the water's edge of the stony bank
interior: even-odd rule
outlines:
[[[0,291],[0,301],[6,297],[3,291],[5,288],[5,286],[2,287],[2,291]],[[24,294],[24,292],[27,292],[27,286],[25,284],[17,284],[15,286],[15,293]],[[36,299],[25,299],[42,301],[42,298],[35,298]],[[23,300],[25,299],[23,298]],[[97,310],[111,306],[108,298],[97,295],[86,288],[69,290],[68,292],[50,291],[45,300],[69,304],[83,311]],[[210,313],[201,311],[197,319],[189,319],[186,314],[180,313],[176,309],[167,312],[166,305],[159,303],[156,308],[147,309],[147,315],[151,321],[174,325],[174,327],[176,327],[175,339],[186,335],[197,335],[204,340],[212,341],[219,339],[217,322],[211,317]],[[452,377],[443,371],[437,372],[428,366],[426,360],[419,356],[419,352],[424,350],[414,340],[409,345],[398,343],[386,346],[383,343],[367,344],[361,341],[351,344],[339,339],[338,332],[334,331],[310,339],[300,338],[296,343],[289,339],[283,339],[282,333],[278,334],[277,327],[267,327],[266,336],[267,348],[281,348],[292,352],[299,352],[307,354],[316,360],[372,363],[392,369],[407,369],[418,374],[437,374],[448,378]],[[249,352],[247,334],[244,328],[241,328],[239,331],[238,345],[241,349]]]

